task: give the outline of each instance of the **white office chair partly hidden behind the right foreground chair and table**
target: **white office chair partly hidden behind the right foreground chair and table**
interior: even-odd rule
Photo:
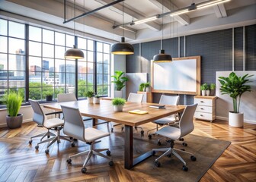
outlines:
[[[165,96],[162,95],[159,101],[159,104],[161,105],[178,105],[178,102],[180,100],[180,96]],[[155,121],[152,121],[152,123],[156,124],[156,127],[152,130],[158,130],[158,127],[162,127],[164,125],[170,125],[170,124],[176,124],[178,122],[178,116],[177,115],[170,115],[165,118],[161,118]],[[147,133],[149,133],[148,130]],[[152,135],[155,135],[155,133],[149,133],[148,137],[149,139],[152,139]],[[158,140],[159,143],[160,140]]]

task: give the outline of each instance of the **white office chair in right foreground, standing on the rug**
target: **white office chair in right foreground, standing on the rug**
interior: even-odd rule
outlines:
[[[178,155],[178,152],[184,152],[187,154],[190,154],[190,159],[192,161],[196,161],[197,158],[194,157],[194,154],[190,152],[183,151],[181,149],[174,149],[174,141],[179,140],[182,137],[186,136],[187,134],[191,133],[194,130],[194,123],[193,123],[193,117],[194,117],[194,112],[196,111],[197,104],[194,105],[187,105],[186,108],[184,109],[184,112],[181,116],[179,128],[178,127],[172,127],[172,126],[165,126],[162,127],[160,130],[156,131],[158,135],[161,135],[162,137],[166,137],[170,140],[168,142],[171,144],[170,148],[163,148],[163,149],[152,149],[153,155],[155,155],[155,151],[161,151],[165,152],[162,154],[160,157],[155,159],[155,165],[157,167],[160,167],[161,163],[158,162],[160,158],[162,158],[165,155],[175,155],[178,159],[180,159],[181,162],[183,162],[183,170],[187,171],[187,166],[186,162],[184,161],[183,158],[181,158],[181,155]]]

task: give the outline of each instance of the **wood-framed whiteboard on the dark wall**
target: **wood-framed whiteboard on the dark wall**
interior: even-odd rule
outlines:
[[[200,56],[152,62],[152,92],[200,94]]]

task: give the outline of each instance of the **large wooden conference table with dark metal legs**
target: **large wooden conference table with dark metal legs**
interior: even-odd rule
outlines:
[[[87,100],[61,103],[54,102],[43,105],[43,107],[61,111],[61,105],[79,108],[82,116],[93,118],[93,125],[97,124],[98,119],[124,124],[124,168],[126,169],[133,168],[134,165],[152,155],[152,151],[149,151],[139,157],[133,158],[133,127],[184,111],[185,108],[184,105],[165,105],[165,109],[158,109],[149,107],[150,105],[157,104],[126,102],[123,106],[123,111],[114,111],[110,100],[101,100],[100,104],[90,104]],[[132,110],[148,111],[148,114],[130,114],[129,111]]]

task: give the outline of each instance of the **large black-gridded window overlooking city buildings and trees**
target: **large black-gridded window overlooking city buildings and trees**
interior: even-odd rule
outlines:
[[[73,45],[84,59],[64,58]],[[23,93],[24,101],[76,90],[78,98],[86,90],[108,96],[110,44],[0,19],[0,99],[10,89]]]

